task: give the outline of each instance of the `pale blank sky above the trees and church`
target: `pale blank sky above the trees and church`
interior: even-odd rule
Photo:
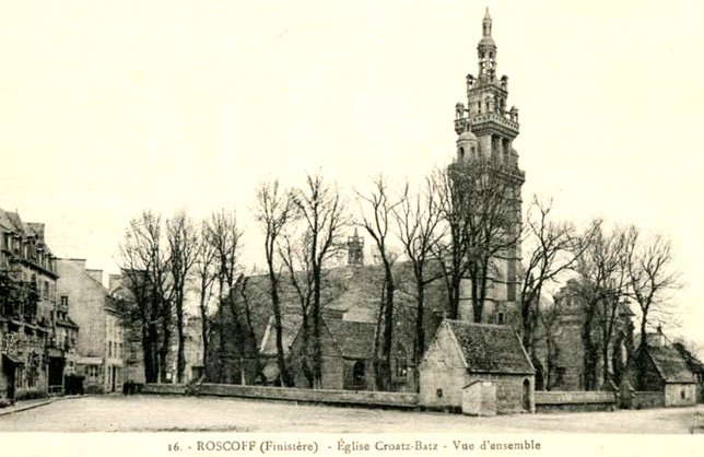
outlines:
[[[144,208],[236,208],[258,253],[262,179],[322,167],[352,188],[451,160],[485,7],[520,113],[524,199],[669,236],[683,331],[704,342],[704,8],[691,1],[7,2],[0,208],[109,272]]]

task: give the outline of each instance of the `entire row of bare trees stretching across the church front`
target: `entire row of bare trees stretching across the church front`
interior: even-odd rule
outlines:
[[[586,388],[596,386],[596,363],[603,363],[617,333],[619,306],[631,300],[641,309],[641,331],[648,319],[667,307],[668,293],[678,286],[670,243],[660,235],[645,237],[634,226],[607,230],[601,221],[579,230],[553,218],[551,201],[533,199],[525,223],[520,212],[520,180],[504,166],[477,163],[436,169],[418,187],[392,188],[379,176],[366,190],[355,190],[356,215],[337,184],[321,172],[307,174],[305,183],[284,189],[275,179],[257,189],[254,210],[266,258],[268,294],[273,315],[277,364],[281,383],[294,384],[284,348],[284,320],[290,301],[282,300],[282,282],[294,291],[300,308],[301,337],[306,351],[303,374],[309,387],[321,385],[321,315],[326,269],[345,247],[352,225],[361,226],[374,242],[384,288],[374,342],[377,388],[391,388],[391,352],[395,339],[395,297],[400,259],[411,271],[410,293],[415,298],[414,360],[426,345],[425,296],[433,281],[446,291],[447,317],[485,320],[484,307],[494,280],[518,289],[517,326],[530,354],[540,339],[556,356],[554,338],[562,303],[543,301],[567,279],[576,279],[580,296],[585,347]],[[141,328],[148,382],[165,378],[172,331],[178,341],[177,380],[184,376],[186,295],[197,291],[202,323],[204,358],[209,354],[210,323],[215,309],[235,306],[234,294],[246,284],[240,265],[243,232],[234,212],[211,214],[200,225],[185,212],[165,221],[150,211],[130,222],[120,246],[122,274],[132,295],[130,316]],[[505,271],[501,259],[520,257],[524,267]],[[504,269],[504,270],[502,270]],[[403,279],[409,283],[408,278]],[[465,292],[469,284],[469,296]],[[244,296],[244,294],[243,294]],[[461,315],[461,300],[471,315]],[[511,297],[509,297],[511,300]],[[213,305],[214,302],[214,305]],[[240,335],[254,338],[251,301],[244,301]],[[234,309],[233,314],[242,314]],[[539,330],[542,329],[542,330]],[[594,341],[596,333],[598,343]],[[255,341],[256,345],[256,341]],[[550,364],[551,358],[548,358]],[[605,370],[605,373],[607,370]]]

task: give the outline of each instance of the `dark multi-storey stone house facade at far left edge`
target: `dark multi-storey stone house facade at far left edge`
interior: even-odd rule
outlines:
[[[46,396],[63,389],[71,340],[68,347],[57,340],[64,326],[57,323],[56,257],[44,234],[43,223],[26,223],[16,212],[0,210],[3,398]]]

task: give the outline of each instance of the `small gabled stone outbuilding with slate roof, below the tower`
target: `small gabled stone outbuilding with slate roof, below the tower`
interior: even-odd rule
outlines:
[[[478,415],[535,411],[535,368],[508,326],[443,320],[420,372],[426,408]]]

